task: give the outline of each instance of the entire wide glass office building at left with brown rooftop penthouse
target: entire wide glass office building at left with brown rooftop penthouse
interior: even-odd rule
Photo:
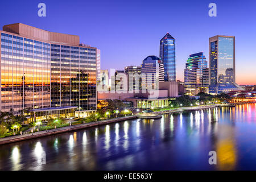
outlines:
[[[1,31],[1,111],[96,110],[96,48],[22,23]],[[57,109],[59,110],[59,109]]]

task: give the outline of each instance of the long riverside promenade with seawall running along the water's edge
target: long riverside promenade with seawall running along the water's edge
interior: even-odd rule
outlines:
[[[155,111],[153,114],[177,113],[177,112],[182,112],[182,111],[193,111],[193,110],[200,110],[200,109],[208,109],[208,108],[217,107],[217,106],[218,105],[180,107],[180,108],[177,108],[177,109],[170,109],[170,110],[164,110],[164,111]],[[55,135],[55,134],[60,134],[60,133],[68,132],[68,131],[75,131],[75,130],[85,129],[85,128],[88,128],[88,127],[106,125],[108,123],[126,121],[126,120],[130,120],[130,119],[135,119],[135,118],[137,118],[137,115],[129,115],[129,116],[126,116],[126,117],[112,118],[112,119],[106,119],[106,120],[102,120],[102,121],[94,121],[94,122],[89,122],[89,123],[83,123],[83,124],[80,124],[80,125],[73,125],[73,126],[59,127],[57,129],[38,131],[36,133],[16,135],[16,136],[12,136],[12,137],[1,138],[0,139],[0,144],[7,144],[7,143],[19,142],[19,141],[27,140],[27,139],[45,137],[45,136],[48,136],[48,135]]]

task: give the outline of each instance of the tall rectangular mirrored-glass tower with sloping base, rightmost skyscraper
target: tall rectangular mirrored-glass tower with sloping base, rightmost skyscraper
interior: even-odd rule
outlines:
[[[236,84],[235,37],[217,35],[209,39],[209,93],[243,90]]]

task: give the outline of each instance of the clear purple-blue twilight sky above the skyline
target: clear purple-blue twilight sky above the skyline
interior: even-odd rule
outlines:
[[[46,3],[46,17],[38,3]],[[217,17],[208,5],[217,4]],[[209,60],[209,37],[236,36],[238,84],[256,84],[255,0],[168,1],[3,1],[0,26],[24,23],[48,31],[80,36],[80,42],[101,49],[102,69],[140,65],[159,56],[159,40],[169,32],[176,39],[177,79],[184,80],[185,61],[192,53]]]

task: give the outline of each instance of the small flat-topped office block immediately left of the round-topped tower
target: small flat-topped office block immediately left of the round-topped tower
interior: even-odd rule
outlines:
[[[128,74],[128,90],[141,90],[141,67],[125,67]]]

